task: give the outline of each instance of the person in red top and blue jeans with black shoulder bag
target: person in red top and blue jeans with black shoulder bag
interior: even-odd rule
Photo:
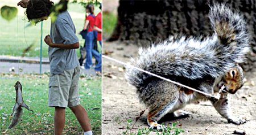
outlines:
[[[94,67],[98,75],[98,72],[101,72],[101,54],[98,53],[97,50],[93,49],[93,46],[95,45],[94,39],[96,39],[97,37],[95,34],[96,32],[93,31],[94,22],[95,22],[95,16],[93,12],[94,6],[87,5],[85,8],[86,8],[86,13],[89,13],[89,15],[86,16],[85,25],[84,25],[84,30],[88,29],[88,32],[86,34],[86,61],[85,61],[84,68],[85,69],[92,68],[93,66],[92,56],[94,56],[94,58],[98,62]]]

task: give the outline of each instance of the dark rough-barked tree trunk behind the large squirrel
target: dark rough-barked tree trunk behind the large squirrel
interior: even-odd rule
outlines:
[[[242,66],[246,71],[256,67],[255,0],[120,0],[117,26],[108,41],[129,41],[147,46],[174,34],[209,36],[213,31],[208,18],[208,5],[213,5],[213,2],[228,3],[245,16],[248,31],[253,37],[253,51]]]

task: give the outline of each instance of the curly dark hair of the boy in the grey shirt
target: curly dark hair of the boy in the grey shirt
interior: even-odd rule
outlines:
[[[52,6],[53,2],[50,0],[30,0],[25,11],[28,21],[48,17]]]

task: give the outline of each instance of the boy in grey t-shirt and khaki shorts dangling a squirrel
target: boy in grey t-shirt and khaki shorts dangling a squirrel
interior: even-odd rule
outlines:
[[[18,6],[27,7],[28,21],[47,20],[53,6],[49,0],[23,0]],[[61,12],[51,24],[51,34],[44,38],[49,46],[50,62],[48,107],[55,107],[54,134],[62,134],[65,126],[65,108],[69,107],[76,115],[84,134],[92,135],[89,118],[79,102],[80,66],[76,50],[79,38],[68,11]]]

